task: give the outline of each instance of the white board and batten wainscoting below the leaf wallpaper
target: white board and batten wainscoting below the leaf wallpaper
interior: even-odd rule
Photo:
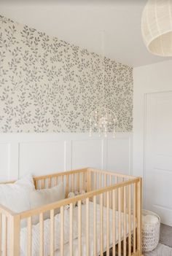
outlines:
[[[1,182],[93,167],[132,174],[132,133],[107,139],[88,133],[1,133]]]

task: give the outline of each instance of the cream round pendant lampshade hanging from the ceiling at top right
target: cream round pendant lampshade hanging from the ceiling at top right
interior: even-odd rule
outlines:
[[[150,53],[172,56],[172,0],[149,0],[142,14],[141,31]]]

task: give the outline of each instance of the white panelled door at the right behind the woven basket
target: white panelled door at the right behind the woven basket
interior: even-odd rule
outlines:
[[[172,92],[146,95],[144,199],[172,226]]]

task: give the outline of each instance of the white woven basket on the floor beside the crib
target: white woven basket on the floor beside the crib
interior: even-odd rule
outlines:
[[[150,252],[157,247],[160,240],[160,217],[154,212],[142,211],[143,215],[153,215],[158,219],[157,223],[142,225],[142,252]]]

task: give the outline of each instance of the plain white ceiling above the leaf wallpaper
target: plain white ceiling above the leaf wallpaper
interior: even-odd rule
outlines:
[[[35,4],[36,3],[36,4]],[[0,14],[51,36],[101,53],[130,66],[169,60],[146,50],[141,38],[141,12],[146,0],[0,1]]]

